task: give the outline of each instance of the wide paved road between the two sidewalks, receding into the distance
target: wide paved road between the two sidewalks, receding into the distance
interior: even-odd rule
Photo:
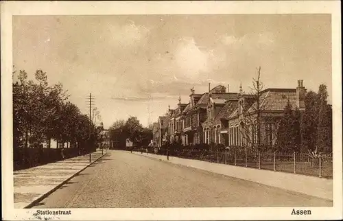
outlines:
[[[212,172],[110,151],[34,208],[332,206]]]

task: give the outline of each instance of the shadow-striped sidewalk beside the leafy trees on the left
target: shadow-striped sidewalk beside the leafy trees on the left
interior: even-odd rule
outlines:
[[[106,151],[104,150],[104,154]],[[14,172],[14,209],[31,207],[101,158],[102,151]]]

